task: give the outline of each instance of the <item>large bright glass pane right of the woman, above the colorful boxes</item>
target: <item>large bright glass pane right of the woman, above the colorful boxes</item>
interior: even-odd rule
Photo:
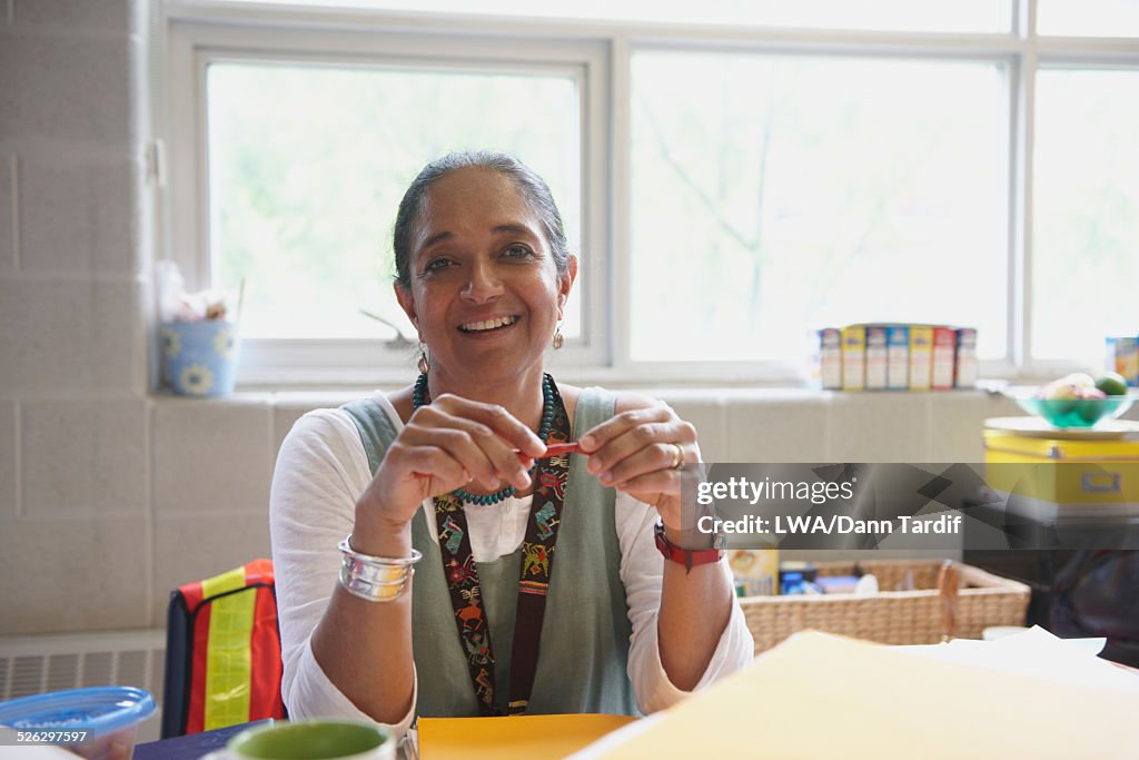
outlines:
[[[1005,354],[1003,64],[646,51],[632,91],[633,360],[794,363],[899,320]]]

